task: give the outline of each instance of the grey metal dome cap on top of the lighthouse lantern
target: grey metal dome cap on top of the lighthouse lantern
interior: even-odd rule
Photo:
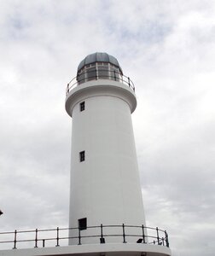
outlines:
[[[117,59],[115,57],[113,57],[112,55],[108,55],[105,52],[96,52],[93,53],[91,55],[87,55],[83,61],[80,62],[80,64],[78,65],[78,72],[86,65],[89,65],[91,63],[95,63],[95,62],[108,62],[113,64],[116,67],[119,67],[120,72],[123,74],[122,72],[122,68],[119,66],[119,62],[117,61]]]

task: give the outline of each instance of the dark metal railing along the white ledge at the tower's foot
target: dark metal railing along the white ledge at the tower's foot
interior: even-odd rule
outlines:
[[[68,236],[68,230],[73,230],[75,236]],[[88,230],[88,235],[84,234]],[[89,243],[111,242],[152,244],[169,247],[166,230],[134,225],[99,225],[88,226],[86,230],[80,228],[59,228],[50,230],[15,230],[13,232],[0,233],[0,250],[23,247],[59,247],[70,244],[81,245]],[[134,232],[135,230],[135,232]],[[88,242],[84,242],[84,239]],[[95,240],[96,239],[96,240]],[[132,241],[131,241],[132,240]],[[90,242],[91,241],[91,242]],[[67,242],[67,243],[65,243]],[[10,245],[10,246],[9,246]]]

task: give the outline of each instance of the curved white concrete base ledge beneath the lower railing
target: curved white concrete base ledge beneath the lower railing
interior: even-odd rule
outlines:
[[[66,247],[42,247],[0,251],[0,256],[170,256],[168,247],[148,244],[90,244]]]

